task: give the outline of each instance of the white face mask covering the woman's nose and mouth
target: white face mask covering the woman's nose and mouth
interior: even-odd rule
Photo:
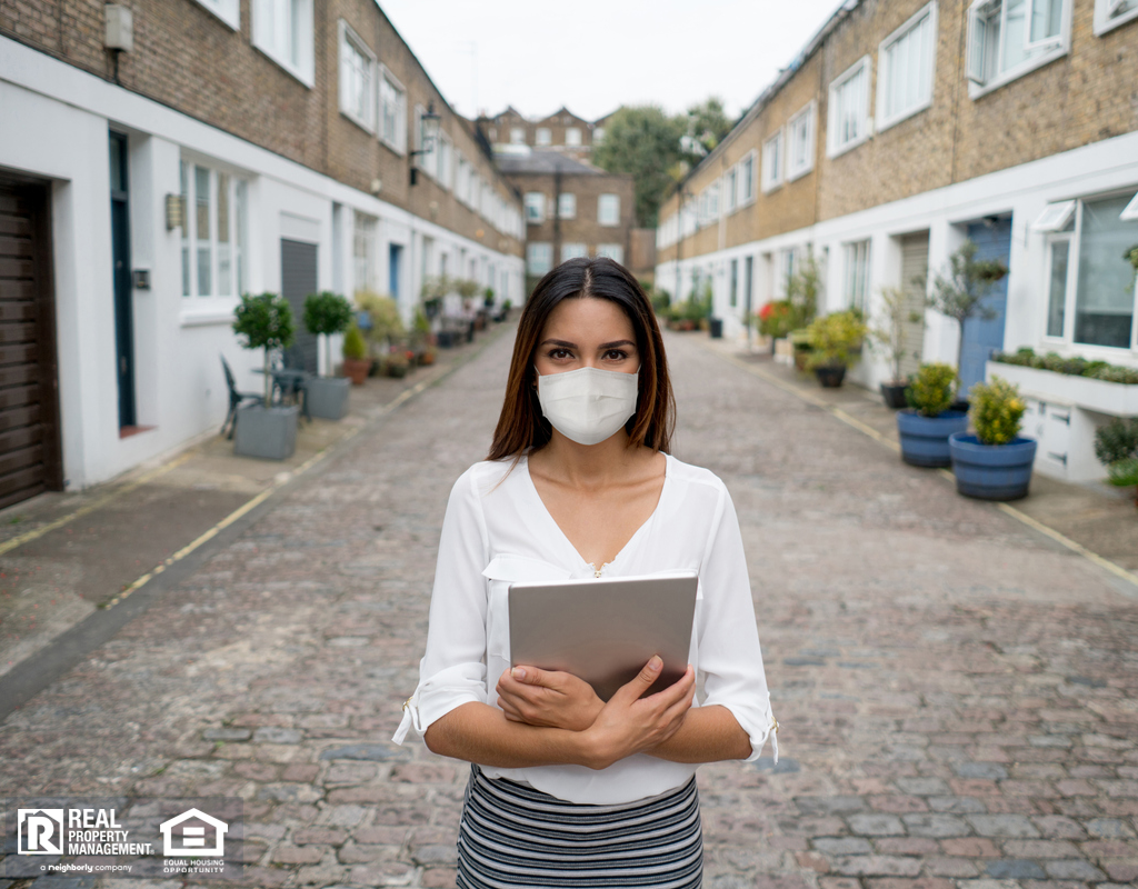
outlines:
[[[566,438],[597,444],[615,435],[636,413],[640,371],[580,368],[537,374],[542,413]]]

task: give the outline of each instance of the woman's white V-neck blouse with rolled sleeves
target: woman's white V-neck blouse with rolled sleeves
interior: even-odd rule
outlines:
[[[778,762],[777,723],[762,670],[739,519],[727,487],[707,469],[667,454],[655,511],[632,536],[605,577],[695,571],[699,584],[688,662],[695,668],[693,706],[720,705],[734,715],[759,758],[770,738]],[[595,570],[553,520],[523,456],[475,463],[451,491],[443,520],[430,602],[427,653],[419,686],[404,705],[391,739],[422,735],[468,701],[497,706],[495,686],[510,668],[506,595],[511,583],[594,577]],[[483,767],[570,802],[615,805],[681,787],[695,765],[635,754],[608,768],[579,765]]]

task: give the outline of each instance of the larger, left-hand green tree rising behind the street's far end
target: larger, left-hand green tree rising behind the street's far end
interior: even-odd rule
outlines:
[[[624,106],[609,118],[593,163],[610,173],[632,173],[636,188],[636,224],[654,228],[660,203],[675,184],[669,174],[679,160],[682,118],[654,105]]]

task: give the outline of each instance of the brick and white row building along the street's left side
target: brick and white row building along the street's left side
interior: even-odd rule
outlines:
[[[218,427],[242,293],[522,294],[520,197],[372,0],[6,0],[0,108],[0,507]]]

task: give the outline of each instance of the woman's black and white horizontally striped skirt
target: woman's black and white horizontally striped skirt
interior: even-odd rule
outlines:
[[[471,766],[459,825],[460,889],[699,889],[702,876],[694,776],[657,797],[592,806]]]

